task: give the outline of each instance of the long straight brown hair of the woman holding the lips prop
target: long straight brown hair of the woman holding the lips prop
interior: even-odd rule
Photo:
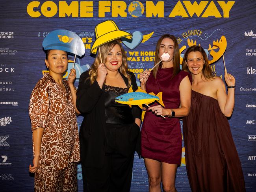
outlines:
[[[173,52],[173,76],[172,78],[174,78],[179,72],[180,72],[180,48],[177,42],[177,39],[174,35],[170,35],[170,34],[164,34],[162,35],[159,39],[158,42],[156,44],[156,55],[155,55],[155,63],[154,66],[160,61],[160,55],[159,55],[159,49],[160,49],[160,45],[161,42],[163,41],[163,39],[165,38],[169,38],[171,40],[173,40],[174,42],[174,52]],[[158,71],[158,68],[161,68],[162,65],[158,65],[153,69],[153,74],[154,77],[156,78],[156,74]]]

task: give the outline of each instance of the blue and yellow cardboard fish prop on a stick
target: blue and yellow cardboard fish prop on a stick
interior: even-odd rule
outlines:
[[[116,97],[115,102],[126,104],[130,107],[132,107],[132,105],[138,105],[142,109],[143,104],[148,105],[149,103],[157,101],[164,107],[162,94],[163,92],[159,92],[157,95],[154,93],[147,93],[142,89],[137,89],[133,92],[132,87],[130,87],[128,93]]]

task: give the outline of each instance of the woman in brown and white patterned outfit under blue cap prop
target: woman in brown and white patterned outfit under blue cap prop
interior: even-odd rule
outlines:
[[[35,191],[77,191],[80,161],[76,123],[76,71],[63,78],[68,66],[67,52],[47,50],[45,73],[32,91],[29,114],[33,132]]]

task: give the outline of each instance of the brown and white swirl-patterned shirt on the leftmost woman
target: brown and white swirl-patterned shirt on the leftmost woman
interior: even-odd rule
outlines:
[[[32,132],[39,127],[44,129],[37,173],[63,170],[70,163],[80,161],[72,95],[67,80],[63,79],[62,83],[66,91],[45,73],[32,91],[29,105]]]

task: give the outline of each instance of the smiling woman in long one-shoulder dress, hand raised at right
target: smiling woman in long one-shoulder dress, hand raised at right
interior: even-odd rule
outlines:
[[[235,102],[235,78],[213,77],[200,46],[187,49],[182,69],[192,75],[192,101],[183,119],[186,168],[193,192],[244,192],[245,182],[228,120]]]

